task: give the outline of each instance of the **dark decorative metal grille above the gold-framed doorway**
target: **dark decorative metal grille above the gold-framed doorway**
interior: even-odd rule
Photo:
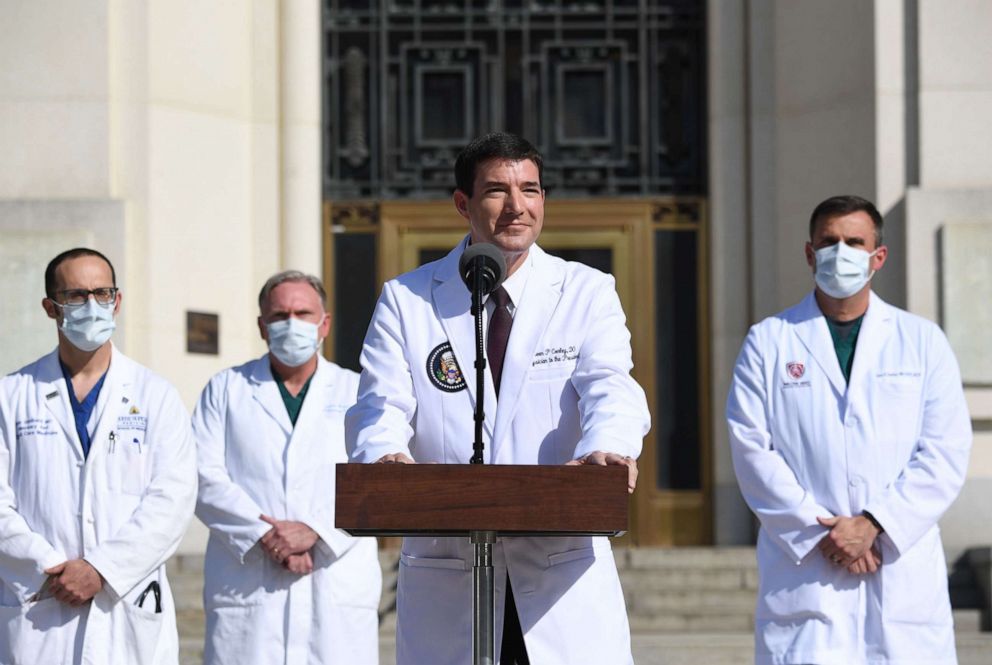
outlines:
[[[325,0],[325,194],[446,197],[498,129],[556,196],[702,194],[704,4]]]

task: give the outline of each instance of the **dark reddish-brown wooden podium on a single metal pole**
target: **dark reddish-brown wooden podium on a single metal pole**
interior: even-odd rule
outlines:
[[[353,536],[467,536],[475,546],[473,651],[493,665],[498,536],[616,536],[627,467],[338,464],[335,526]]]

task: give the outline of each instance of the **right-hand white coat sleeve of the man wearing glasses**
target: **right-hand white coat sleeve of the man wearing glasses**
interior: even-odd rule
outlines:
[[[118,599],[172,556],[193,517],[196,448],[189,414],[171,386],[156,397],[149,405],[145,433],[151,475],[141,501],[130,518],[85,557]]]

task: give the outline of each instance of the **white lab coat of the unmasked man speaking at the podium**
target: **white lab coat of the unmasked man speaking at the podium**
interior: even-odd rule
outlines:
[[[418,462],[472,455],[475,332],[458,276],[465,242],[383,287],[362,352],[358,404],[348,412],[353,461],[403,452]],[[485,462],[564,464],[596,450],[636,457],[650,416],[631,378],[630,334],[613,278],[530,250],[515,303],[497,406],[486,372]],[[428,375],[448,342],[466,387]],[[609,540],[502,538],[494,551],[496,649],[507,567],[533,663],[626,665],[630,631]],[[407,538],[397,598],[399,665],[464,665],[472,654],[473,549],[467,538]]]

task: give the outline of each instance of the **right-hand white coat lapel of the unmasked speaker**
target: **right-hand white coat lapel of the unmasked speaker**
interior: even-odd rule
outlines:
[[[510,431],[534,354],[561,299],[563,271],[537,245],[531,247],[530,251],[534,261],[533,272],[527,278],[520,302],[514,303],[516,309],[513,327],[506,344],[506,359],[503,361],[503,375],[500,377],[499,408],[496,409],[496,432],[493,437],[494,453],[499,452]]]

